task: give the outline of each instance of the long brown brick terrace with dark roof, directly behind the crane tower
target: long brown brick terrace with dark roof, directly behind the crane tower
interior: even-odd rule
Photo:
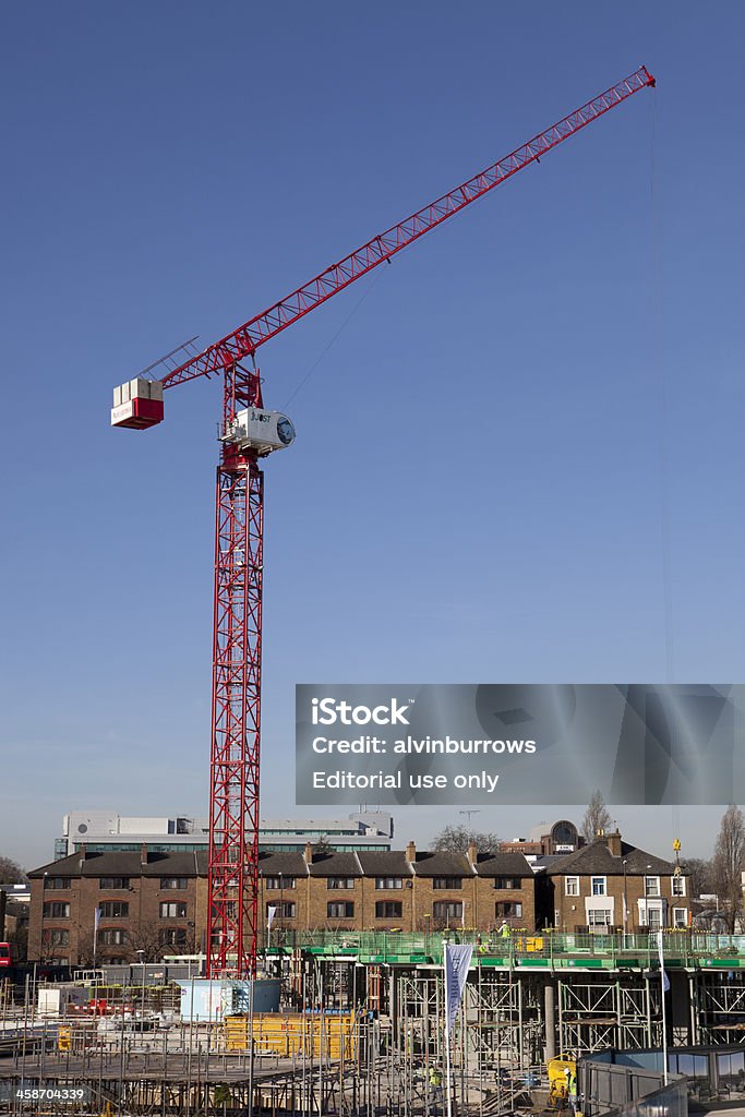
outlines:
[[[202,952],[207,857],[86,852],[29,873],[29,957],[90,965]],[[522,853],[405,850],[259,855],[260,938],[305,930],[489,930],[535,925],[535,876]],[[96,917],[96,909],[98,917]],[[96,929],[97,920],[97,929]],[[139,952],[143,952],[140,954]]]

